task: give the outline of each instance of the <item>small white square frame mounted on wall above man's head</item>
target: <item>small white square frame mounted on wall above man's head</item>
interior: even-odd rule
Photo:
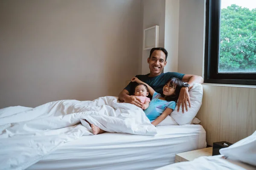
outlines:
[[[159,26],[152,26],[143,31],[143,50],[159,47]]]

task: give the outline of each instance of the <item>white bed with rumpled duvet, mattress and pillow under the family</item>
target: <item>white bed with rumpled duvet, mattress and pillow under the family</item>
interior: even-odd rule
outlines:
[[[189,111],[177,113],[176,108],[158,127],[141,108],[113,96],[0,109],[0,167],[151,170],[172,164],[176,153],[207,145],[204,128],[190,124],[201,106],[202,86],[194,85],[189,94]],[[84,119],[112,133],[92,135]]]

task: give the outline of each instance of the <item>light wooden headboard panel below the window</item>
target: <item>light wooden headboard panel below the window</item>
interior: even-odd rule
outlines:
[[[203,84],[203,103],[197,114],[207,144],[235,143],[256,130],[256,87]]]

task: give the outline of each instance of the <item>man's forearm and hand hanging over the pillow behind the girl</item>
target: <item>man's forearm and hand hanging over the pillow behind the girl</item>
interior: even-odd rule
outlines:
[[[188,111],[187,102],[189,102],[189,108],[190,106],[190,99],[189,99],[189,90],[193,87],[195,83],[202,84],[204,82],[203,77],[191,75],[191,74],[185,74],[182,78],[183,82],[188,82],[189,88],[183,87],[180,90],[180,95],[177,103],[177,112],[180,111],[180,105],[182,109],[182,113],[184,113],[184,107],[186,108],[186,111]]]

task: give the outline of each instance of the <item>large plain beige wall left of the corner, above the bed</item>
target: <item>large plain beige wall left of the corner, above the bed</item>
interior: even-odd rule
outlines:
[[[140,8],[140,0],[2,0],[0,108],[117,96],[139,71]]]

